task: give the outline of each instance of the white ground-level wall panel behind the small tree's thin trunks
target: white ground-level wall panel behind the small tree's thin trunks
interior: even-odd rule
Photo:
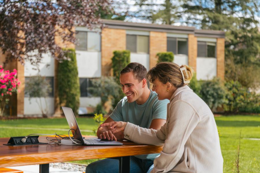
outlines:
[[[41,102],[42,102],[42,108],[46,109],[46,104],[45,104],[45,100],[43,97],[40,98]],[[31,98],[31,100],[29,101],[29,97],[25,97],[24,98],[24,114],[25,115],[42,115],[42,112],[40,110],[40,107],[37,104],[40,103],[39,98]],[[54,114],[54,98],[53,97],[47,97],[46,98],[46,103],[48,106],[48,112],[49,115],[53,115]]]

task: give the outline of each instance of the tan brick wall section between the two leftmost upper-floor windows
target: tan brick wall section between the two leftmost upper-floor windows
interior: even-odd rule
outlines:
[[[102,76],[111,76],[114,50],[126,49],[126,32],[123,29],[105,28],[101,34],[101,73]]]

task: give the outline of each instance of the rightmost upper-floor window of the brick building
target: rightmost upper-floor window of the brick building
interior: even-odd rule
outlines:
[[[198,57],[216,58],[216,43],[198,42]]]

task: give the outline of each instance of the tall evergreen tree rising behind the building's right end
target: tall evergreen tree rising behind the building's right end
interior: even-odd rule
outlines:
[[[185,0],[182,7],[181,20],[188,26],[226,32],[226,78],[246,87],[259,85],[260,1]]]

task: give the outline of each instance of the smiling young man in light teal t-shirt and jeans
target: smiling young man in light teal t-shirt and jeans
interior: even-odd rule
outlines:
[[[146,68],[140,63],[130,63],[120,72],[120,84],[124,97],[104,123],[111,121],[130,122],[140,127],[159,129],[166,123],[168,100],[158,100],[157,94],[147,86]],[[101,139],[123,140],[123,131],[113,134],[107,127],[99,127],[97,136]],[[153,168],[158,154],[131,156],[130,172],[147,172]],[[118,172],[119,161],[104,159],[90,163],[86,172]]]

